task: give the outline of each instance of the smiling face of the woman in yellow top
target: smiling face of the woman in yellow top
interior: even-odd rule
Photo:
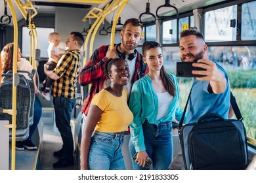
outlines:
[[[114,61],[110,67],[108,77],[119,86],[127,85],[130,77],[130,70],[127,62],[124,59]]]

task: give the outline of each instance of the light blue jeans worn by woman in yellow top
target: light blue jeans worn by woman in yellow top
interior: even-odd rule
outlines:
[[[121,152],[124,135],[95,131],[91,138],[89,169],[125,170]]]

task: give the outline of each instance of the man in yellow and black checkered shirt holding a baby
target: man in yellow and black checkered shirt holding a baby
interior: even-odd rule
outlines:
[[[54,168],[74,165],[74,142],[70,126],[72,109],[75,107],[77,78],[79,75],[81,52],[84,38],[79,32],[72,32],[66,41],[68,51],[58,60],[53,71],[45,74],[54,80],[52,85],[53,105],[55,110],[55,122],[62,137],[62,149],[54,152],[54,156],[60,158],[53,164]]]

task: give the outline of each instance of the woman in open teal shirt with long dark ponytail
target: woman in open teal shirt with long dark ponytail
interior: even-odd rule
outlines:
[[[168,169],[173,159],[172,122],[181,120],[179,86],[175,75],[167,74],[163,67],[161,46],[155,41],[142,45],[144,63],[149,73],[133,84],[129,108],[133,112],[130,124],[129,150],[133,169],[145,169],[151,158],[153,169]]]

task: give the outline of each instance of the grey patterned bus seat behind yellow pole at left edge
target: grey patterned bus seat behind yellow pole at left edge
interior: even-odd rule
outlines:
[[[3,74],[3,76],[12,76],[12,74]],[[28,81],[23,75],[20,78],[24,80],[18,83],[16,92],[16,141],[24,141],[28,139],[29,135],[29,116],[30,116],[30,105],[31,105],[31,92]],[[2,82],[0,88],[0,107],[5,109],[12,108],[12,80],[6,80]],[[0,114],[0,120],[9,120],[12,123],[12,116],[10,114]],[[11,129],[9,132],[9,138],[11,141],[12,133]]]

